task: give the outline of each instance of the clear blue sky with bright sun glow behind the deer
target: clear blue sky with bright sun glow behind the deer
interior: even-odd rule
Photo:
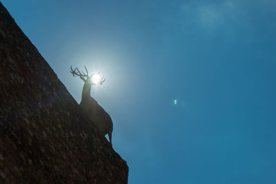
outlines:
[[[78,102],[106,76],[130,184],[276,183],[275,0],[1,2]]]

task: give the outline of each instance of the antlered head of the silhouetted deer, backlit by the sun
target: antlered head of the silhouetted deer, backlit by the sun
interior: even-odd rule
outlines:
[[[86,66],[84,66],[84,68],[86,69]],[[88,84],[91,84],[91,85],[98,85],[98,84],[102,85],[103,82],[106,81],[106,79],[103,76],[99,76],[99,72],[98,73],[92,73],[89,76],[87,69],[86,69],[86,73],[84,73],[82,70],[80,72],[78,68],[75,68],[75,70],[73,70],[72,65],[71,65],[70,72],[72,73],[73,76],[79,76],[79,78],[81,80],[83,80],[84,83],[88,83]]]

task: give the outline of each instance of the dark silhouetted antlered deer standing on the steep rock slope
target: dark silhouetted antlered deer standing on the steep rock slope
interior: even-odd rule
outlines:
[[[84,68],[86,69],[86,66],[84,66]],[[103,110],[103,108],[101,108],[97,101],[95,101],[95,99],[90,96],[91,86],[97,84],[101,85],[106,79],[97,76],[98,80],[95,82],[92,80],[93,76],[96,75],[95,73],[89,75],[87,69],[86,73],[84,73],[83,71],[80,72],[78,68],[73,70],[72,66],[70,72],[73,74],[73,76],[79,76],[79,78],[84,81],[81,93],[81,103],[79,103],[79,105],[83,111],[86,112],[90,121],[95,124],[103,136],[108,134],[109,142],[112,146],[112,119],[110,115],[105,110]]]

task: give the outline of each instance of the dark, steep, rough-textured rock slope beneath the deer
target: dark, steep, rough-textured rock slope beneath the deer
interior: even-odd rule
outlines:
[[[127,183],[128,166],[0,3],[0,183]]]

